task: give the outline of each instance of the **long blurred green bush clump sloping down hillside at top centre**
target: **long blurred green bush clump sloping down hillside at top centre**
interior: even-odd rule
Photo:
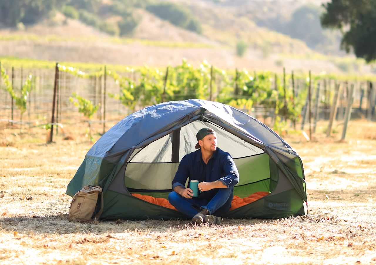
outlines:
[[[148,5],[146,10],[155,14],[164,20],[170,21],[172,24],[194,31],[197,33],[202,32],[200,22],[194,15],[181,5],[170,2],[162,2]]]

